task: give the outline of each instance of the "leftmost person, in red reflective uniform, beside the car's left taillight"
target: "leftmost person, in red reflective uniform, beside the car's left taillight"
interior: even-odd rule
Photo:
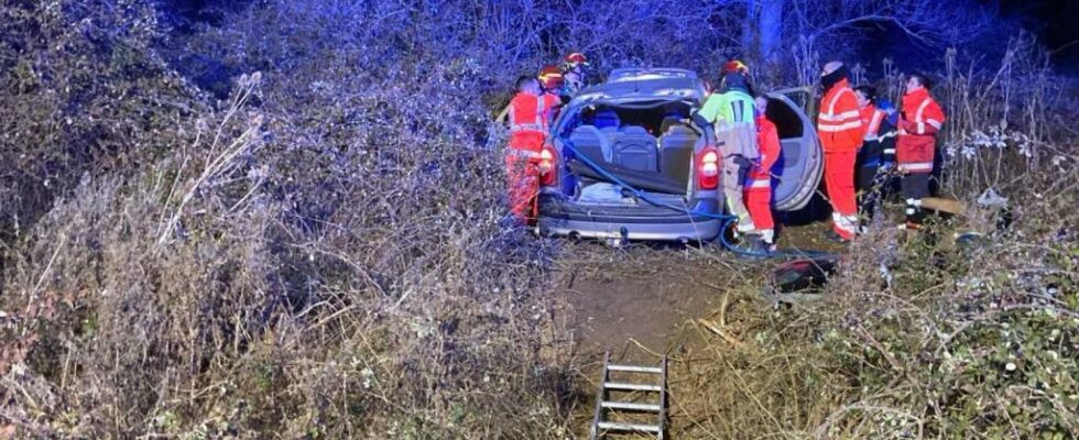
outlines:
[[[540,80],[531,76],[517,78],[516,90],[509,107],[510,144],[505,148],[505,170],[512,220],[525,224],[535,215],[540,153],[558,98],[544,94]]]

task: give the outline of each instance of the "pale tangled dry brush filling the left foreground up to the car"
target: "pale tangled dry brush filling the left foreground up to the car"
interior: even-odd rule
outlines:
[[[294,20],[288,41],[232,44],[258,36],[243,20],[194,40],[270,69],[162,129],[170,151],[130,177],[85,174],[12,245],[3,424],[564,437],[576,362],[542,295],[551,251],[498,226],[504,175],[475,147],[475,82],[427,58],[357,72],[378,23],[324,53],[306,33],[324,11],[286,11],[250,20]],[[302,63],[268,64],[279,55]]]

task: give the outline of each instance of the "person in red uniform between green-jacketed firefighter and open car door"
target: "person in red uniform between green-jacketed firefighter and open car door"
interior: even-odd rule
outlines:
[[[775,251],[775,222],[772,220],[772,166],[780,158],[780,132],[765,116],[769,99],[756,97],[756,148],[760,158],[750,168],[745,183],[745,205],[764,252]]]

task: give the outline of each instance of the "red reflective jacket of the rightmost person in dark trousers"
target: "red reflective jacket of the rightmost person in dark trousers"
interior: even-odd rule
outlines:
[[[944,110],[929,96],[929,90],[920,88],[903,96],[902,114],[895,145],[900,170],[931,173],[936,134],[945,121]]]

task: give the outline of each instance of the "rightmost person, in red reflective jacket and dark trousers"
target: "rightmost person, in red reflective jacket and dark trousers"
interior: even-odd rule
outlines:
[[[929,197],[929,176],[936,154],[936,134],[945,121],[944,110],[929,96],[929,80],[923,74],[911,75],[900,113],[900,136],[895,158],[903,174],[901,185],[906,199],[906,229],[918,229],[925,219],[922,199]]]

